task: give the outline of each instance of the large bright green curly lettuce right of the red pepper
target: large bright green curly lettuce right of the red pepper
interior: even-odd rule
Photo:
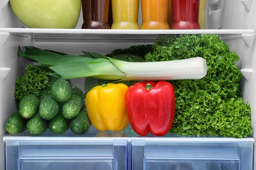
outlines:
[[[170,81],[175,88],[175,120],[170,133],[198,136],[247,137],[252,133],[251,108],[239,90],[242,77],[230,51],[216,34],[160,35],[146,62],[202,57],[203,79]]]

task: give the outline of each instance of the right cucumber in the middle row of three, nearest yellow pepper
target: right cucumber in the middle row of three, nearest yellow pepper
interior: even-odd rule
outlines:
[[[72,94],[69,101],[62,106],[62,115],[66,119],[76,117],[83,106],[83,100],[78,94]]]

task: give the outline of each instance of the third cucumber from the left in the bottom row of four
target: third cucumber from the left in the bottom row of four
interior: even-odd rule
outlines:
[[[62,114],[55,116],[49,123],[49,130],[54,134],[63,134],[69,129],[69,121]]]

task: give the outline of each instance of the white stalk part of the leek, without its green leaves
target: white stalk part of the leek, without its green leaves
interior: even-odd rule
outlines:
[[[109,60],[125,73],[122,80],[201,79],[207,74],[206,60],[201,57],[161,62]]]

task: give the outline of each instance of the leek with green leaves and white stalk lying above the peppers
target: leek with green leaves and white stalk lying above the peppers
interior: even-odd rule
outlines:
[[[207,63],[201,57],[161,62],[125,62],[101,58],[55,65],[50,69],[63,79],[177,80],[203,78],[207,74]]]

